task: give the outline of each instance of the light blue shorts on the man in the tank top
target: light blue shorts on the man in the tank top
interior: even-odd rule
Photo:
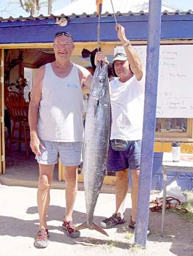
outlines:
[[[45,149],[40,147],[41,156],[36,156],[37,162],[43,165],[55,165],[58,163],[58,157],[62,165],[76,166],[80,165],[82,145],[81,142],[57,142],[42,140]]]

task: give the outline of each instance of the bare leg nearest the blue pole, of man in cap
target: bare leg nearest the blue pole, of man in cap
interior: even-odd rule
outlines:
[[[140,170],[132,170],[132,221],[135,222],[137,214],[138,189]]]

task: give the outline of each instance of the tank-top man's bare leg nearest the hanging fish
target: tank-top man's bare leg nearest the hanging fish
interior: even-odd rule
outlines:
[[[77,195],[77,166],[65,166],[64,177],[66,181],[66,214],[64,221],[72,221],[72,212]]]

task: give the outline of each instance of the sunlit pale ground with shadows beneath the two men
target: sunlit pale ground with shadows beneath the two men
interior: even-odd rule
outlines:
[[[46,249],[34,248],[34,236],[38,227],[36,203],[37,189],[29,187],[0,186],[0,255],[1,256],[192,256],[193,236],[192,223],[186,222],[177,214],[167,214],[165,236],[160,236],[161,214],[150,213],[146,249],[136,249],[134,234],[126,224],[107,230],[109,237],[95,230],[82,230],[80,238],[72,239],[61,230],[61,219],[64,216],[64,189],[52,189],[48,211],[50,244]],[[113,209],[113,194],[99,195],[94,220],[99,223],[110,216]],[[130,215],[130,194],[128,193],[126,219]],[[79,191],[75,203],[75,224],[86,219],[84,192]]]

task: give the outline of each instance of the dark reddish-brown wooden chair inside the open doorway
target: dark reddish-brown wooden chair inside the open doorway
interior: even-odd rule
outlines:
[[[26,135],[27,130],[29,130],[29,104],[26,102],[22,94],[15,91],[9,91],[5,94],[4,104],[12,120],[12,129],[7,155],[10,155],[12,143],[19,143],[19,151],[20,143],[25,143],[26,158],[29,158],[28,138]],[[17,130],[18,132],[16,132]]]

